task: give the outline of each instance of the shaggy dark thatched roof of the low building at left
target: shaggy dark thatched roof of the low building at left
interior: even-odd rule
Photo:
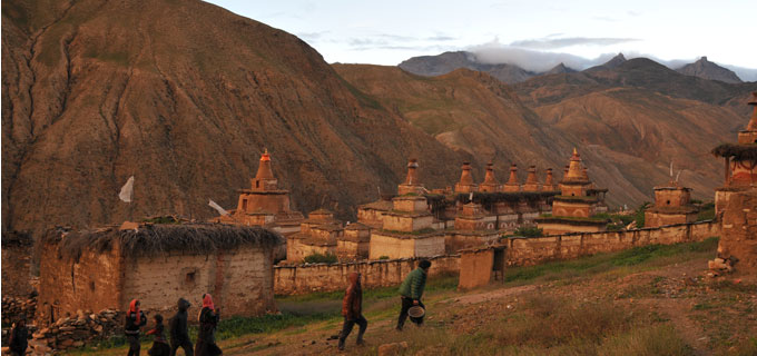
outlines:
[[[55,229],[45,244],[60,244],[62,257],[78,259],[82,250],[111,250],[119,244],[125,256],[157,256],[167,253],[205,255],[235,249],[243,245],[272,248],[284,243],[276,233],[250,226],[194,222],[181,225],[140,225],[136,229],[117,227],[97,230],[67,231]]]

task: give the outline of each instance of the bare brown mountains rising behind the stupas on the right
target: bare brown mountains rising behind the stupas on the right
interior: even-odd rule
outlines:
[[[709,149],[733,140],[734,131],[748,120],[724,98],[730,93],[746,107],[750,90],[719,82],[710,87],[712,81],[658,66],[633,59],[615,69],[542,76],[514,87],[468,69],[427,78],[394,67],[334,68],[440,142],[474,156],[478,179],[491,159],[500,179],[510,161],[552,167],[560,177],[577,147],[590,177],[610,189],[612,205],[651,200],[653,186],[670,179],[670,160],[682,169],[680,179],[696,197],[711,199],[722,178],[721,162],[710,157]],[[671,81],[668,93],[659,91],[666,80]],[[678,81],[694,87],[684,96],[712,90],[704,97],[715,102],[669,95],[679,88]],[[733,99],[739,93],[744,100]]]

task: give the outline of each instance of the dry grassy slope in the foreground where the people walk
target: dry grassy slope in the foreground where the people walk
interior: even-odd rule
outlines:
[[[708,239],[511,268],[504,284],[468,293],[455,290],[455,277],[436,278],[425,327],[404,333],[393,330],[395,288],[370,289],[368,346],[353,346],[353,335],[347,353],[375,355],[377,345],[405,340],[410,355],[753,355],[757,286],[697,276],[716,248]],[[341,297],[282,297],[282,316],[224,320],[224,353],[333,354]]]

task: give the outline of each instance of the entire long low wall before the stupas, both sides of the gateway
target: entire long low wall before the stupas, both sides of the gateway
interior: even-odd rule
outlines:
[[[635,246],[699,241],[718,235],[720,235],[719,225],[710,220],[628,231],[511,238],[505,241],[505,259],[508,266],[537,265],[554,259],[570,259],[598,253],[618,251]],[[347,275],[352,271],[363,274],[363,286],[366,288],[394,286],[402,283],[404,276],[414,268],[415,263],[420,259],[275,266],[274,289],[277,295],[342,290],[346,286]],[[432,276],[460,273],[460,255],[445,255],[430,259],[433,260]]]

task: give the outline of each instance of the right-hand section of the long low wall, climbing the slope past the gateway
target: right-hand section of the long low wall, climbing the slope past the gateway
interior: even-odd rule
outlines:
[[[700,241],[719,235],[719,225],[708,220],[626,231],[511,238],[508,240],[508,266],[537,265],[547,260],[618,251],[635,246]]]

